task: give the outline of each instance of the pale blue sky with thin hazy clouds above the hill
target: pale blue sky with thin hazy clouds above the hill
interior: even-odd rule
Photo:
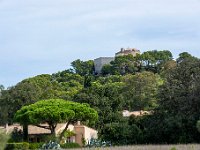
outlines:
[[[200,0],[0,0],[0,84],[122,47],[200,57]]]

